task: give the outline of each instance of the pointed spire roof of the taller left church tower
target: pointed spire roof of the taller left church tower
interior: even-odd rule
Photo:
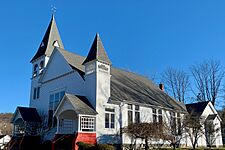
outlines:
[[[54,15],[52,15],[51,21],[48,25],[48,28],[42,39],[42,42],[38,48],[38,51],[36,52],[34,57],[31,59],[31,62],[33,62],[34,60],[36,60],[37,58],[41,56],[49,57],[55,46],[64,49],[64,46],[63,46],[62,40],[59,35],[59,31],[56,25],[55,17]]]

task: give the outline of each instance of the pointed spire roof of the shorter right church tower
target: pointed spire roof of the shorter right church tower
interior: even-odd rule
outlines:
[[[102,44],[102,41],[101,41],[98,33],[95,36],[95,39],[91,46],[91,49],[88,53],[88,56],[84,60],[83,64],[93,61],[93,60],[97,60],[97,61],[106,63],[108,65],[111,65],[111,61],[108,58],[108,55],[104,49],[104,46]]]

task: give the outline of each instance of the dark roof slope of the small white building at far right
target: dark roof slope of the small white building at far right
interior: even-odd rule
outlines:
[[[192,104],[186,104],[186,108],[189,114],[200,117],[205,110],[205,107],[208,105],[209,101],[206,102],[198,102]]]

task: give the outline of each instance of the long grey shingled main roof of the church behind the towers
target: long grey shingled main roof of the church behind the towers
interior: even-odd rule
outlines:
[[[85,68],[82,63],[85,57],[62,49],[61,53],[72,68],[81,70],[84,74]],[[111,67],[111,75],[111,103],[123,101],[186,111],[183,103],[168,96],[146,77],[114,67]]]

